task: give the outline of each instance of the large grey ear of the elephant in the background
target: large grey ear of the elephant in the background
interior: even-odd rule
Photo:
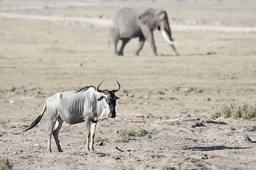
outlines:
[[[157,17],[155,16],[155,10],[149,9],[139,16],[140,23],[148,26],[151,30],[155,30],[158,27]]]

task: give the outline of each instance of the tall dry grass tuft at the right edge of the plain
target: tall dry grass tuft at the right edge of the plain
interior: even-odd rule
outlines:
[[[248,101],[247,103],[236,104],[236,103],[228,103],[227,105],[223,105],[218,109],[211,118],[243,118],[243,119],[251,119],[256,118],[256,103]]]

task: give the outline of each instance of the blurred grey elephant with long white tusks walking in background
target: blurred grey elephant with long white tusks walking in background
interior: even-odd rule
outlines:
[[[158,29],[162,31],[162,35],[171,45],[175,55],[179,55],[174,47],[172,40],[171,29],[166,11],[155,10],[153,8],[122,8],[113,16],[110,26],[110,38],[113,46],[113,55],[123,55],[123,48],[131,38],[139,38],[138,48],[135,55],[139,55],[143,48],[145,40],[150,42],[152,55],[157,56],[155,47],[153,30]],[[120,50],[117,50],[118,40],[122,41]]]

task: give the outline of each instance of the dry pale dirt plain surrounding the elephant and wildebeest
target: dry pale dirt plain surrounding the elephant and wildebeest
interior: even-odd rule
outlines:
[[[182,26],[173,32],[180,55],[156,31],[159,57],[150,57],[147,43],[133,56],[133,40],[125,56],[111,56],[105,24],[87,19],[108,21],[123,6],[168,7],[171,26]],[[255,120],[211,119],[223,103],[256,101],[254,6],[238,0],[1,1],[0,157],[13,169],[255,169]],[[47,152],[47,114],[22,132],[57,91],[101,81],[115,89],[116,80],[118,115],[98,123],[94,152],[85,150],[83,123],[63,124],[62,153],[53,140]],[[123,130],[149,133],[120,137]]]

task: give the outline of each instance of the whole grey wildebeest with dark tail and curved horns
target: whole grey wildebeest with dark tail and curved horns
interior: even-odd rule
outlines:
[[[118,83],[118,81],[116,82]],[[86,148],[89,150],[89,137],[91,136],[90,148],[94,150],[96,123],[105,114],[107,118],[109,116],[116,118],[116,100],[118,100],[118,97],[115,93],[121,88],[119,83],[118,90],[113,91],[100,90],[99,86],[97,88],[86,86],[79,91],[65,91],[50,96],[45,101],[42,113],[25,131],[34,128],[47,110],[50,118],[48,152],[51,152],[52,135],[58,151],[62,152],[58,135],[64,121],[69,124],[85,122],[87,135]]]

